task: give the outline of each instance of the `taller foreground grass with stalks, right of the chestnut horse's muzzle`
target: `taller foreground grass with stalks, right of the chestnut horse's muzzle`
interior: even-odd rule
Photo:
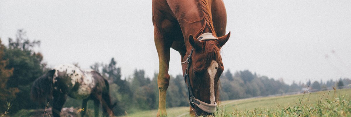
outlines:
[[[330,91],[329,91],[330,92]],[[277,103],[276,109],[254,108],[241,111],[234,109],[227,111],[227,108],[220,106],[216,113],[218,117],[351,117],[351,101],[349,94],[336,96],[334,90],[333,98],[329,99],[329,92],[315,98],[309,93],[307,98],[299,99],[295,106],[281,106]],[[325,98],[326,95],[326,98]],[[305,95],[303,95],[304,97]],[[323,99],[324,97],[324,99]]]

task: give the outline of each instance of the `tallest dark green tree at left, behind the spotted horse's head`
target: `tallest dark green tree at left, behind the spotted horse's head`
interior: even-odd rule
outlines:
[[[8,48],[4,49],[2,58],[8,60],[5,69],[13,69],[13,75],[9,77],[6,85],[8,88],[19,89],[13,100],[13,111],[37,107],[28,97],[31,84],[47,70],[46,63],[42,63],[42,54],[33,51],[33,48],[39,45],[40,41],[28,39],[26,31],[18,30],[16,40],[9,38]]]

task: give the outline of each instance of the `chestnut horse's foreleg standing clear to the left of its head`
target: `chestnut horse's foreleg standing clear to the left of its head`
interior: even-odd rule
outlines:
[[[168,74],[168,64],[170,61],[171,41],[164,39],[162,33],[155,27],[154,30],[155,45],[159,58],[159,74],[157,77],[157,84],[159,89],[159,104],[157,116],[167,116],[166,112],[166,91],[170,81]]]

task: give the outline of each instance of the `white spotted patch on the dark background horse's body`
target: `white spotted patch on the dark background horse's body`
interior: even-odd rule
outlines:
[[[74,65],[61,65],[55,67],[55,81],[61,80],[61,84],[66,85],[68,95],[75,99],[85,99],[90,96],[95,87],[95,79],[91,71],[81,71]],[[56,83],[58,84],[58,83]]]

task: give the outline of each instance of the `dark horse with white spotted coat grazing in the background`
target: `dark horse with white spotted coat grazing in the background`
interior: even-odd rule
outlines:
[[[113,116],[109,85],[98,72],[80,70],[72,64],[63,64],[35,80],[31,97],[37,102],[48,99],[52,105],[54,117],[60,117],[62,106],[67,95],[74,99],[82,99],[81,116],[84,117],[88,100],[94,101],[95,117],[99,116],[99,106],[102,104],[103,115]]]

